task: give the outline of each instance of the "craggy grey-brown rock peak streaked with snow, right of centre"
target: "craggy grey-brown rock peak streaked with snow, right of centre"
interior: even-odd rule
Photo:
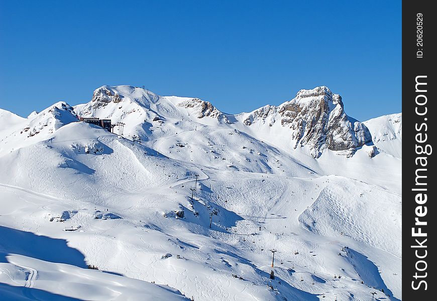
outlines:
[[[367,127],[346,115],[342,97],[327,87],[300,90],[296,97],[278,107],[265,106],[252,112],[243,122],[275,122],[289,127],[294,148],[309,146],[311,155],[318,158],[326,147],[346,151],[352,156],[355,149],[372,141]]]

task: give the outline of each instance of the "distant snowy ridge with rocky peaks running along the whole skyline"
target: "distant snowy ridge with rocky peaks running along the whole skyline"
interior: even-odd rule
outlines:
[[[57,105],[69,107],[65,102],[58,102],[51,108]],[[178,130],[187,130],[192,124],[220,125],[224,128],[232,127],[240,131],[252,132],[260,139],[272,143],[278,142],[290,151],[301,148],[315,159],[319,158],[325,150],[352,157],[357,149],[363,147],[369,157],[385,152],[396,158],[402,158],[398,150],[398,141],[401,141],[402,136],[401,126],[396,129],[397,134],[390,135],[392,141],[389,143],[394,143],[390,147],[384,147],[388,142],[381,141],[388,133],[377,133],[378,128],[392,128],[387,123],[392,115],[360,122],[346,114],[342,97],[331,92],[326,86],[299,90],[296,97],[278,106],[266,105],[249,113],[235,115],[223,113],[210,102],[199,98],[159,96],[149,90],[128,85],[101,86],[94,90],[88,103],[78,104],[72,108],[74,117],[94,116],[110,118],[113,123],[123,122],[125,134],[138,135],[143,139],[156,139],[158,136],[174,134]],[[27,119],[21,119],[14,114],[17,116],[15,121],[8,122],[18,124],[23,120],[36,120],[37,116],[45,115],[48,110],[50,109],[47,108],[40,113],[33,112]],[[13,113],[8,113],[11,114]],[[395,118],[400,119],[397,122],[401,124],[401,115]],[[68,122],[72,121],[76,120],[70,118]],[[163,129],[162,124],[167,121],[173,124],[170,128]],[[375,122],[385,122],[387,125],[385,123],[373,125]],[[30,130],[31,134],[37,134],[43,129],[42,126],[47,126],[44,120],[40,123],[34,125],[30,122],[20,132]],[[366,124],[372,127],[373,134]],[[161,134],[157,134],[158,128],[163,131]]]

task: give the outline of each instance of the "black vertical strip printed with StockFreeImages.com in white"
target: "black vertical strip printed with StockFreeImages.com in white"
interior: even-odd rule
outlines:
[[[435,292],[437,291],[437,286],[435,285],[435,265],[434,256],[435,254],[435,231],[437,213],[435,212],[435,189],[437,186],[437,177],[433,175],[437,173],[435,170],[435,160],[434,152],[437,152],[437,144],[434,143],[437,134],[433,130],[433,124],[437,122],[437,109],[434,104],[437,99],[435,98],[435,89],[437,89],[435,81],[435,71],[437,68],[435,64],[435,40],[437,39],[437,29],[435,19],[435,10],[431,9],[431,5],[434,4],[431,1],[403,1],[402,2],[402,115],[403,115],[403,161],[402,161],[402,299],[404,300],[435,300]],[[422,14],[422,43],[423,45],[417,45],[418,34],[417,32],[420,22],[417,18],[418,14]],[[420,27],[419,27],[420,28]],[[423,56],[417,58],[417,51],[422,51]],[[416,77],[426,76],[426,79],[421,81],[426,81],[426,92],[416,92]],[[424,88],[424,86],[421,86]],[[416,96],[419,94],[424,94],[426,96],[426,104],[423,106],[418,106],[416,104]],[[419,102],[423,102],[424,98],[419,97]],[[426,115],[419,116],[416,113],[416,107],[420,112],[424,111],[424,106],[426,106]],[[425,120],[425,118],[427,120]],[[422,126],[421,130],[416,130],[416,127],[420,128],[422,123],[426,123],[427,130],[425,131],[425,126]],[[427,134],[427,140],[423,143],[418,143],[416,141],[416,134],[422,132],[421,138],[423,139],[423,133]],[[418,155],[416,154],[416,145],[426,145],[436,146],[432,149],[430,155]],[[417,157],[427,157],[427,166],[420,167],[416,165]],[[426,168],[426,186],[421,186],[421,188],[426,188],[427,191],[423,192],[427,194],[427,201],[421,206],[426,206],[427,213],[424,217],[420,217],[420,221],[426,221],[426,226],[415,226],[416,207],[420,206],[416,203],[415,197],[418,193],[417,191],[412,191],[414,188],[418,188],[416,183],[416,169]],[[422,172],[422,175],[424,173]],[[423,210],[420,209],[420,210]],[[426,248],[413,248],[413,245],[417,245],[415,239],[420,242],[423,241],[423,237],[413,237],[412,228],[420,227],[421,232],[427,233],[425,237],[427,241],[423,243]],[[417,230],[416,230],[417,232]],[[415,251],[418,250],[419,255],[424,254],[426,249],[427,254],[425,258],[419,259],[416,257]],[[416,262],[418,260],[426,261],[426,269],[424,271],[416,270]],[[418,267],[423,269],[425,264],[423,262],[418,263]],[[414,278],[415,273],[418,275],[425,275],[423,278]],[[420,285],[418,289],[413,289],[413,283],[416,285],[420,280],[426,281],[426,290],[424,283]]]

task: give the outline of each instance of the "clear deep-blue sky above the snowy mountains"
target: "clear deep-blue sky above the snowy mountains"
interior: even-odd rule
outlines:
[[[400,112],[401,2],[0,0],[1,108],[121,84],[228,113],[326,85],[359,120]]]

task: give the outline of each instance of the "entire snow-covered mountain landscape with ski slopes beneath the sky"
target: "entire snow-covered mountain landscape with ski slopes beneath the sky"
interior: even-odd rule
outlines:
[[[263,114],[132,86],[0,110],[1,299],[402,299],[401,114],[363,127],[302,91]],[[294,135],[283,108],[320,101]]]

